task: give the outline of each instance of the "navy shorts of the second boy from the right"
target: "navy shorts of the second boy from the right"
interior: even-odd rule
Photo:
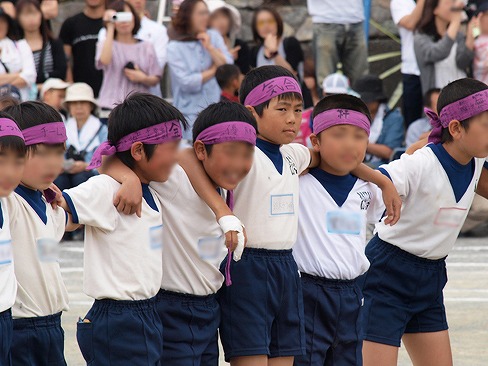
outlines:
[[[363,295],[356,280],[302,273],[307,354],[295,366],[361,366]]]

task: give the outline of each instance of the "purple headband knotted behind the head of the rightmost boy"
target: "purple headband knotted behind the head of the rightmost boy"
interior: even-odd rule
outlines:
[[[440,116],[434,111],[424,108],[424,112],[430,118],[430,124],[433,127],[429,135],[429,142],[434,144],[441,142],[442,128],[447,128],[451,121],[464,121],[486,111],[488,111],[488,90],[471,94],[446,105],[442,108]]]

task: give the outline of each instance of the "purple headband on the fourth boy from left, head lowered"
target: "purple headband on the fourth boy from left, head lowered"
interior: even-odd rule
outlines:
[[[205,145],[229,141],[244,141],[256,145],[256,130],[249,123],[230,121],[210,126],[200,132],[196,139]]]

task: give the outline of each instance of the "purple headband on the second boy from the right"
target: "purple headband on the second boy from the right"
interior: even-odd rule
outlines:
[[[313,133],[338,125],[352,125],[365,130],[369,136],[371,122],[364,114],[350,109],[329,109],[319,113],[313,119]]]

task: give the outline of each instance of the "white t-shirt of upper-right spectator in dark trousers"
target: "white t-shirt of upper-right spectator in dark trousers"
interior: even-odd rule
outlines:
[[[420,75],[417,65],[417,58],[413,49],[413,32],[400,26],[400,20],[406,15],[410,15],[415,9],[413,0],[391,0],[390,11],[393,22],[398,26],[400,38],[402,40],[402,74]]]

